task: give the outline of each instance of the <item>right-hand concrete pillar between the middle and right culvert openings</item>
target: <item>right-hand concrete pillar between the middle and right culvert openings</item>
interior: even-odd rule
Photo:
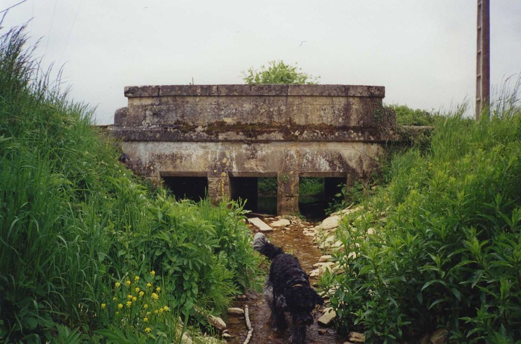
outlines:
[[[277,174],[277,215],[299,212],[299,173],[297,171]]]

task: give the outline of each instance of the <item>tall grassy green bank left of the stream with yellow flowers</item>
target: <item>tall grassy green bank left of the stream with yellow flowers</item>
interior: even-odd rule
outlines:
[[[242,209],[145,187],[91,127],[86,106],[39,70],[26,40],[23,27],[0,38],[0,341],[160,332],[171,342],[180,313],[218,313],[255,283]],[[116,316],[141,297],[156,300],[134,286],[151,271],[168,316]],[[122,302],[115,288],[127,281],[134,288]],[[68,329],[78,326],[81,336]],[[111,330],[93,334],[101,328]]]

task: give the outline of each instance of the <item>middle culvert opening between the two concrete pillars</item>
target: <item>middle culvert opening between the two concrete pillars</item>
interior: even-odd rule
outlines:
[[[230,177],[230,187],[232,200],[246,200],[246,210],[277,214],[276,177]]]

